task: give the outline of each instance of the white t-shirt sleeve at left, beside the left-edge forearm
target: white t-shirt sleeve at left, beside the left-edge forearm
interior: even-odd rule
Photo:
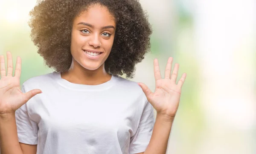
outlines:
[[[25,93],[24,85],[22,85],[21,91]],[[27,103],[30,101],[32,99],[29,99]],[[21,143],[36,145],[38,142],[38,125],[29,118],[27,103],[15,112],[18,139]]]

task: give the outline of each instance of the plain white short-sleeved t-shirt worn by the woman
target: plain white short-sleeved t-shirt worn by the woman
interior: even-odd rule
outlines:
[[[22,92],[43,93],[16,110],[19,142],[36,154],[136,154],[145,151],[154,111],[134,81],[112,75],[99,85],[74,84],[59,72],[28,79]]]

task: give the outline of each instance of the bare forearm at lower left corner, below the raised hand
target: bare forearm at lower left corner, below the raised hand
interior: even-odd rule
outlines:
[[[15,113],[0,115],[1,154],[23,154],[20,148]]]

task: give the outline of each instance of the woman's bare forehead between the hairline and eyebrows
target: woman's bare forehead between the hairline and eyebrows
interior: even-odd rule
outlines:
[[[90,23],[95,27],[108,25],[116,26],[115,18],[108,11],[108,8],[99,4],[89,6],[86,11],[81,12],[81,14],[75,18],[74,24],[78,24],[79,22]]]

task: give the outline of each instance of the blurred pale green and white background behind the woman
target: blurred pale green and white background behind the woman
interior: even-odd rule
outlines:
[[[154,29],[136,76],[154,91],[153,60],[187,73],[167,154],[256,154],[256,0],[140,0]],[[0,0],[0,54],[22,58],[20,84],[53,70],[29,35],[36,0]],[[173,64],[174,64],[173,63]]]

